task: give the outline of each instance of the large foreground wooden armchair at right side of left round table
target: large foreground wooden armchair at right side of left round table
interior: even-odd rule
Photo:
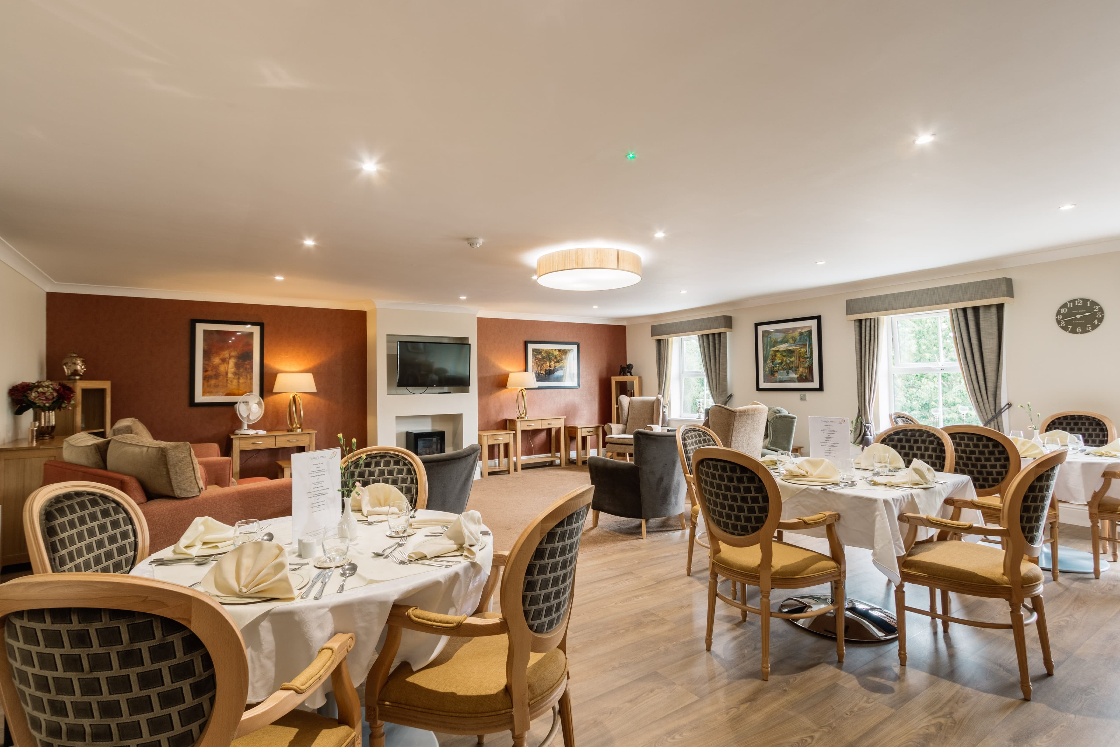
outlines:
[[[508,553],[495,552],[474,615],[438,615],[393,605],[385,643],[365,681],[365,713],[373,747],[384,747],[384,722],[444,734],[510,731],[525,744],[533,719],[552,711],[542,744],[563,731],[575,747],[568,691],[568,622],[584,522],[595,488],[576,488],[536,516]],[[504,567],[502,613],[486,613]],[[393,669],[403,631],[450,636],[435,661]]]

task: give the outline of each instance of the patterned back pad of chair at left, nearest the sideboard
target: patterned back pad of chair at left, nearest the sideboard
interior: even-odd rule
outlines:
[[[137,563],[132,517],[108,495],[56,495],[39,508],[39,531],[55,573],[128,573]]]

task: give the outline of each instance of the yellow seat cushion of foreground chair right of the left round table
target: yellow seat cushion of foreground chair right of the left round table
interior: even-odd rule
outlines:
[[[488,716],[513,710],[505,689],[505,635],[452,637],[418,672],[404,662],[389,675],[377,702],[439,716]],[[529,703],[554,690],[568,672],[559,648],[529,655]]]

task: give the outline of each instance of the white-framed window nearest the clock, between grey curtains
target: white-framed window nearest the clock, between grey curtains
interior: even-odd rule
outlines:
[[[979,424],[956,360],[949,311],[887,317],[886,330],[890,411],[937,428]]]

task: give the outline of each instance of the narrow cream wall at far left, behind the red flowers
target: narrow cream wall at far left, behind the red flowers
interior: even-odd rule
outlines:
[[[0,443],[27,438],[31,413],[13,414],[8,389],[46,375],[47,293],[19,272],[0,262],[0,385],[3,417]]]

